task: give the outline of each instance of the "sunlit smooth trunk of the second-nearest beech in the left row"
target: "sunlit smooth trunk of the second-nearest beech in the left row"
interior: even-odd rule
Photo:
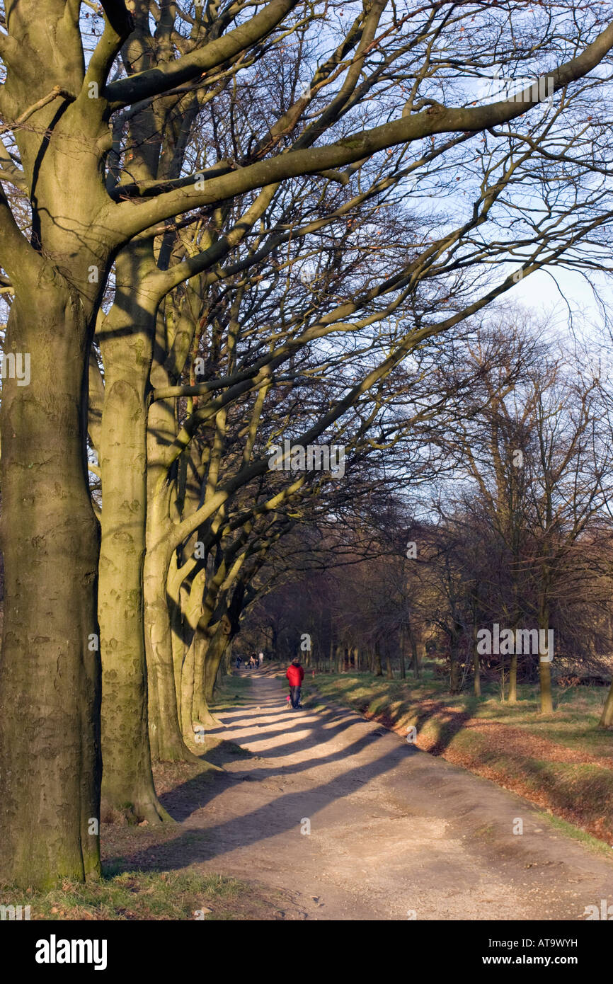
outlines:
[[[149,257],[148,257],[149,259]],[[126,275],[136,256],[123,257]],[[128,267],[128,270],[126,270]],[[134,310],[134,318],[131,311]],[[98,617],[102,656],[102,816],[168,819],[153,787],[147,707],[143,562],[147,527],[147,388],[152,325],[136,298],[116,303],[100,332],[104,404]]]

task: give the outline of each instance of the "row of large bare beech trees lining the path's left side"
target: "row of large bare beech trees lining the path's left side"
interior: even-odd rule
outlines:
[[[4,351],[31,357],[0,410],[0,880],[23,886],[97,876],[92,819],[167,820],[152,758],[193,754],[276,544],[370,510],[393,446],[427,481],[467,319],[607,269],[613,217],[600,7],[88,6],[0,6]],[[546,103],[508,97],[528,73]],[[271,471],[285,439],[345,447],[342,482]]]

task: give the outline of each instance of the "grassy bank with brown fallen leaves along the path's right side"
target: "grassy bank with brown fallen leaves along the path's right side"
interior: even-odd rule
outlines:
[[[309,705],[318,694],[381,721],[432,755],[520,793],[554,816],[613,844],[613,731],[597,727],[604,688],[558,694],[553,714],[538,714],[536,688],[521,687],[516,705],[497,688],[481,700],[451,697],[426,667],[423,679],[386,680],[369,673],[308,678]]]

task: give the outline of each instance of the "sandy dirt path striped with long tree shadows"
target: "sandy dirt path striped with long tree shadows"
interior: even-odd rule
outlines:
[[[351,710],[292,711],[286,693],[254,671],[252,703],[216,733],[255,757],[226,758],[196,810],[189,790],[164,798],[186,829],[175,867],[279,889],[289,919],[576,920],[613,904],[613,861],[520,796]]]

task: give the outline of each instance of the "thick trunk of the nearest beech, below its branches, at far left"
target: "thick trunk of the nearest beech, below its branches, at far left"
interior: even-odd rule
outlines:
[[[2,388],[0,880],[48,889],[100,874],[99,527],[87,479],[90,335],[81,299],[44,269],[16,296]],[[93,822],[93,823],[92,823]]]

